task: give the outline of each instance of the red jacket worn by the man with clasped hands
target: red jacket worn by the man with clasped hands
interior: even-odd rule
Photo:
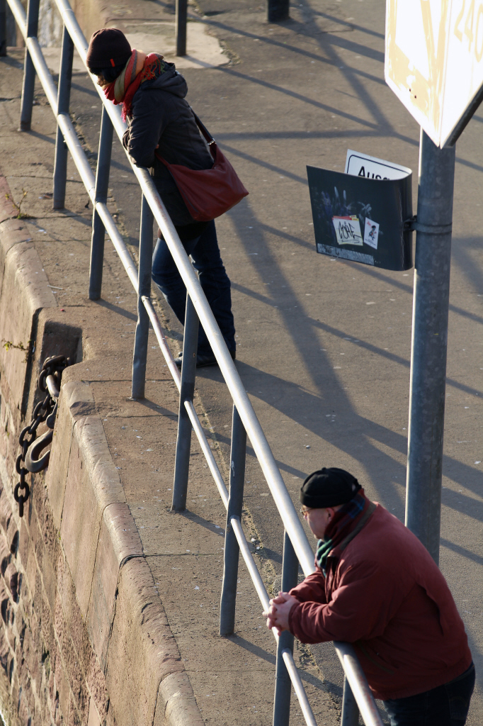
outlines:
[[[344,550],[290,590],[302,643],[352,643],[376,698],[405,698],[471,664],[463,621],[439,568],[395,516],[376,506]]]

